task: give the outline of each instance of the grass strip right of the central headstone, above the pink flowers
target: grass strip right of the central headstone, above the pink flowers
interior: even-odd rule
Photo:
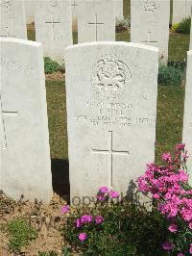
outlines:
[[[184,87],[158,87],[156,117],[156,161],[181,141]]]

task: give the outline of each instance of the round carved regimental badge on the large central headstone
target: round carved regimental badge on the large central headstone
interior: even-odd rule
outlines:
[[[130,68],[115,57],[106,56],[92,69],[91,85],[100,96],[118,97],[129,88],[132,74]]]

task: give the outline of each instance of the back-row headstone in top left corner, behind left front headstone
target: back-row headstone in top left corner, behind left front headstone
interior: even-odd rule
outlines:
[[[25,8],[22,0],[0,0],[0,38],[27,38]]]

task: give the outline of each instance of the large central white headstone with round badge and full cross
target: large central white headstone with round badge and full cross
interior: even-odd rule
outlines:
[[[157,49],[83,43],[65,67],[71,201],[100,186],[125,194],[155,158]]]

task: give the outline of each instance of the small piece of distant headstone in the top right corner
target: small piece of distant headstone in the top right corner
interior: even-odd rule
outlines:
[[[183,18],[191,16],[192,0],[173,0],[172,24],[180,23]]]

